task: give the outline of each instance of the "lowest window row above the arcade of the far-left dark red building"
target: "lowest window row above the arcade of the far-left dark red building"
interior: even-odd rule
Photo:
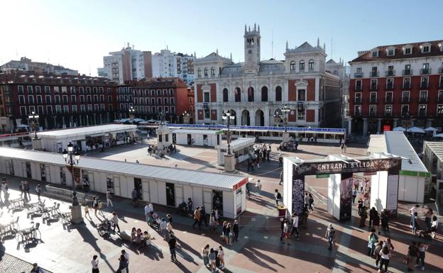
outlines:
[[[87,109],[87,111],[86,111]],[[108,104],[108,111],[112,111],[112,104]],[[29,111],[28,111],[29,110]],[[44,111],[45,110],[45,111]],[[80,113],[86,112],[98,112],[98,111],[106,111],[106,107],[104,104],[87,104],[80,105]],[[38,113],[39,115],[52,115],[54,113],[78,113],[77,105],[56,105],[55,111],[53,111],[53,106],[47,105],[45,107],[39,105],[35,108],[35,106],[20,106],[20,114],[21,116],[28,116],[30,113]]]

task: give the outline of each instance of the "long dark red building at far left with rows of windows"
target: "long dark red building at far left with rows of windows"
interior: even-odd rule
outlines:
[[[33,111],[44,129],[109,123],[116,118],[116,84],[77,75],[0,73],[0,130],[28,124]]]

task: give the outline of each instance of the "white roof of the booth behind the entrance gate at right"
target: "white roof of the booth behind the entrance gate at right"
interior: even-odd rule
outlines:
[[[383,149],[385,150],[383,151]],[[403,132],[385,131],[384,135],[371,135],[368,152],[388,152],[406,157],[408,159],[402,160],[402,170],[427,172],[425,165]],[[409,160],[412,164],[409,163]]]

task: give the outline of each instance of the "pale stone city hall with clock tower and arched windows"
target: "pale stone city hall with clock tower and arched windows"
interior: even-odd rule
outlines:
[[[212,52],[195,60],[195,117],[199,124],[222,123],[223,111],[235,125],[334,127],[340,122],[341,79],[326,69],[324,47],[305,42],[288,48],[285,60],[261,60],[260,26],[244,30],[244,62]]]

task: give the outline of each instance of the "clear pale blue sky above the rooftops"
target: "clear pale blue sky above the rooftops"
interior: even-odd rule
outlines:
[[[0,62],[26,56],[97,75],[123,48],[243,61],[244,25],[261,27],[261,58],[283,59],[285,43],[326,43],[349,61],[377,45],[443,40],[443,1],[7,1],[0,4]],[[271,41],[273,40],[273,50]],[[273,52],[273,55],[271,54]]]

